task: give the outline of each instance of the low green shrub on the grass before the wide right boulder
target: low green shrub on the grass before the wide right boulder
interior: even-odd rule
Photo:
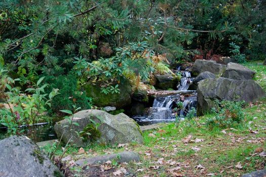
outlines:
[[[238,125],[244,119],[242,111],[243,102],[232,101],[215,101],[216,108],[212,108],[211,113],[214,115],[207,119],[206,125],[209,128],[219,126],[222,128]]]

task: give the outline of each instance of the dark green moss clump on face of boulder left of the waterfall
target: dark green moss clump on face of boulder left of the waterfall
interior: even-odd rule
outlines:
[[[95,141],[101,137],[101,132],[96,129],[93,123],[89,123],[83,129],[83,142]],[[89,135],[88,135],[89,134]]]

